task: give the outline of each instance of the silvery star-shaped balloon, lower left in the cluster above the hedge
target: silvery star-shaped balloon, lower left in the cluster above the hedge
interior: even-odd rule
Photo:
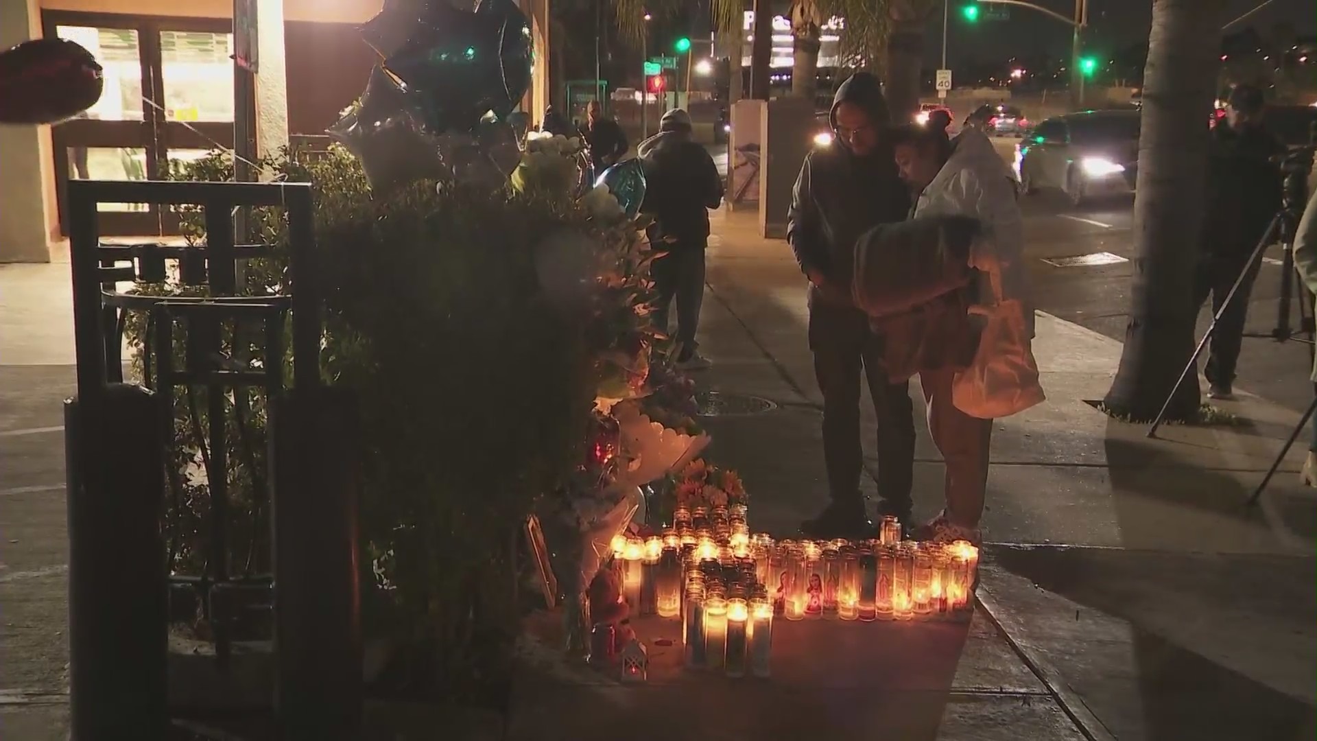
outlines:
[[[452,177],[436,137],[402,105],[403,91],[377,66],[361,105],[329,129],[329,136],[361,160],[371,190],[389,193],[423,179]]]

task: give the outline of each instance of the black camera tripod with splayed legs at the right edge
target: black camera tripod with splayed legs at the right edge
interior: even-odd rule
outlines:
[[[1317,131],[1314,131],[1313,134],[1314,134],[1313,136],[1314,141],[1317,141]],[[1317,323],[1314,323],[1314,316],[1312,316],[1308,312],[1308,309],[1305,309],[1305,303],[1308,307],[1312,307],[1310,303],[1312,297],[1310,294],[1308,294],[1308,290],[1305,286],[1303,286],[1303,283],[1299,283],[1299,287],[1300,287],[1300,294],[1305,298],[1305,301],[1301,301],[1299,305],[1299,319],[1300,319],[1299,324],[1300,324],[1300,332],[1306,334],[1308,338],[1296,338],[1296,332],[1293,332],[1289,326],[1289,312],[1293,301],[1293,286],[1296,282],[1299,282],[1297,276],[1295,274],[1293,245],[1295,245],[1295,237],[1299,232],[1299,222],[1300,219],[1303,219],[1304,210],[1308,206],[1308,175],[1312,173],[1313,150],[1314,146],[1309,145],[1280,160],[1281,173],[1284,174],[1285,178],[1284,200],[1280,207],[1280,211],[1277,211],[1276,215],[1272,216],[1271,223],[1267,225],[1267,231],[1263,232],[1262,239],[1258,240],[1258,245],[1252,249],[1252,253],[1249,256],[1249,261],[1243,265],[1243,269],[1239,270],[1239,277],[1237,277],[1234,285],[1230,286],[1230,293],[1227,293],[1225,301],[1221,302],[1221,309],[1218,309],[1217,312],[1212,316],[1212,324],[1208,327],[1208,331],[1202,335],[1202,339],[1198,340],[1197,347],[1193,349],[1193,355],[1189,357],[1189,363],[1185,364],[1184,370],[1180,372],[1180,377],[1176,378],[1175,385],[1171,388],[1171,393],[1167,394],[1166,401],[1162,403],[1162,410],[1158,413],[1156,419],[1152,421],[1152,426],[1148,427],[1147,436],[1150,438],[1156,436],[1158,429],[1166,421],[1166,414],[1171,407],[1171,401],[1175,398],[1176,393],[1179,393],[1180,386],[1184,384],[1185,378],[1189,377],[1189,373],[1197,370],[1198,356],[1202,355],[1202,349],[1208,345],[1208,341],[1212,339],[1212,334],[1217,328],[1217,322],[1221,320],[1221,316],[1230,307],[1230,303],[1234,301],[1235,294],[1239,291],[1239,287],[1243,285],[1246,280],[1249,280],[1250,273],[1258,269],[1259,264],[1262,262],[1263,253],[1267,251],[1268,247],[1271,247],[1276,241],[1280,243],[1283,253],[1280,264],[1280,273],[1281,273],[1280,305],[1277,309],[1276,328],[1272,330],[1270,335],[1262,335],[1262,336],[1270,336],[1280,343],[1288,341],[1291,339],[1299,339],[1300,341],[1308,343],[1309,348],[1312,348],[1314,339],[1313,338],[1314,330],[1317,330],[1314,324]],[[1259,335],[1247,335],[1247,336],[1259,336]],[[1313,361],[1312,349],[1309,349],[1308,359],[1310,364]],[[1267,475],[1263,476],[1262,483],[1258,484],[1258,488],[1252,492],[1252,496],[1249,497],[1249,501],[1246,502],[1245,506],[1251,508],[1258,504],[1258,500],[1262,497],[1262,492],[1267,488],[1267,484],[1271,483],[1271,479],[1272,476],[1275,476],[1276,469],[1280,468],[1280,464],[1284,461],[1284,458],[1289,452],[1289,448],[1295,444],[1295,440],[1299,439],[1299,434],[1303,432],[1304,427],[1308,425],[1308,421],[1312,418],[1314,411],[1317,411],[1317,396],[1314,396],[1313,402],[1308,405],[1308,410],[1304,411],[1304,415],[1303,418],[1300,418],[1299,425],[1295,426],[1293,431],[1289,434],[1289,438],[1285,440],[1284,447],[1281,447],[1280,455],[1276,456],[1276,460],[1271,464],[1271,468],[1267,469]]]

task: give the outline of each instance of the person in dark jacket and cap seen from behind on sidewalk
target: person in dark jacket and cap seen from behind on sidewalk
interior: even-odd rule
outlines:
[[[709,210],[723,202],[723,181],[709,150],[691,138],[690,116],[681,108],[664,113],[658,133],[636,149],[645,167],[645,202],[653,216],[649,241],[666,254],[653,261],[651,277],[658,294],[655,324],[668,330],[668,309],[677,301],[677,367],[709,368],[699,355],[695,328],[705,301],[705,248]]]

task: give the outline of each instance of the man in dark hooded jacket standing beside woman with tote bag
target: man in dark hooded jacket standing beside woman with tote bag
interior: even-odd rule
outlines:
[[[860,372],[878,421],[880,514],[910,519],[914,410],[909,382],[892,384],[882,367],[881,338],[851,299],[856,239],[878,224],[903,222],[910,195],[901,182],[878,79],[857,73],[842,83],[830,120],[836,138],[801,166],[788,215],[786,239],[810,281],[809,341],[823,394],[823,458],[831,504],[801,530],[815,538],[871,537],[860,494]]]

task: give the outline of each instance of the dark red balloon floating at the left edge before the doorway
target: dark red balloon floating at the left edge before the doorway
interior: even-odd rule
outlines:
[[[0,123],[57,124],[100,100],[96,58],[65,38],[34,38],[0,53]]]

